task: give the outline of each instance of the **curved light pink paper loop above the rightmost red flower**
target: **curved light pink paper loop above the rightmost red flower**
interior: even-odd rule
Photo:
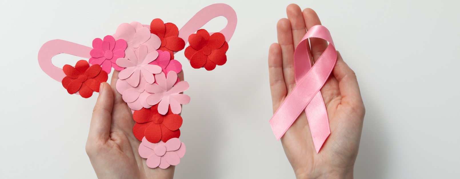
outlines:
[[[224,34],[225,41],[228,43],[235,32],[237,19],[235,10],[233,10],[230,5],[226,4],[208,5],[198,11],[195,16],[189,20],[189,22],[185,23],[185,25],[180,28],[178,37],[184,39],[184,42],[187,43],[189,41],[190,34],[200,30],[200,28],[207,22],[219,16],[224,16],[228,21],[227,26],[219,32]],[[213,33],[209,33],[209,35],[212,34]]]

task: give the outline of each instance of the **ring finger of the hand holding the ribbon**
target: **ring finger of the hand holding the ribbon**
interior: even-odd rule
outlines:
[[[278,33],[278,44],[281,47],[283,61],[283,76],[288,92],[295,87],[294,79],[294,46],[292,40],[291,23],[288,19],[282,18],[276,25]]]

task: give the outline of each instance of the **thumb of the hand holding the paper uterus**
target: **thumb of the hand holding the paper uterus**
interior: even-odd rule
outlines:
[[[114,97],[109,83],[103,82],[99,88],[99,97],[92,111],[88,139],[105,141],[109,139]]]

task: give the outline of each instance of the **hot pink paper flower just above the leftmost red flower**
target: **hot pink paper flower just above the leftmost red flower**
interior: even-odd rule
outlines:
[[[107,73],[112,71],[112,67],[117,71],[123,70],[122,67],[116,65],[116,60],[125,57],[125,50],[127,48],[125,40],[118,39],[115,41],[115,38],[111,35],[105,36],[104,40],[95,38],[92,40],[92,48],[89,53],[91,55],[89,59],[90,64],[101,65],[102,70]]]

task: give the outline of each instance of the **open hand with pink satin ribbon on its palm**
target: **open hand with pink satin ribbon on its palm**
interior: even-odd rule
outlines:
[[[298,5],[291,4],[287,14],[288,19],[278,21],[278,43],[270,46],[268,57],[274,112],[296,86],[294,49],[306,29],[321,25],[316,12],[308,8],[301,11]],[[310,43],[308,53],[316,62],[328,43],[320,38],[310,38]],[[281,138],[284,152],[298,179],[353,178],[365,109],[355,73],[339,52],[337,54],[334,70],[321,88],[331,129],[321,150],[316,153],[305,112]]]

